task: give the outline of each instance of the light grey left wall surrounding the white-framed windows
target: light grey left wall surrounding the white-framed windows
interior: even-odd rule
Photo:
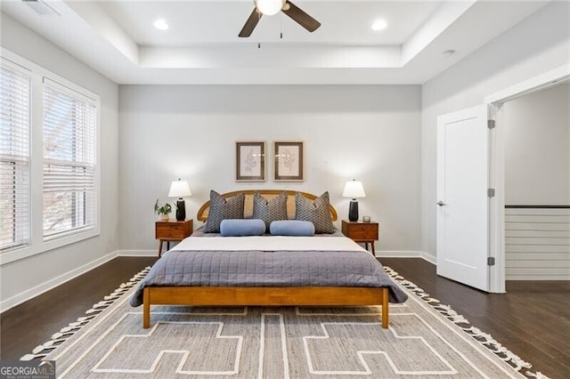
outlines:
[[[118,85],[4,13],[0,17],[4,48],[99,94],[102,107],[101,235],[0,266],[4,310],[102,262],[118,249]]]

